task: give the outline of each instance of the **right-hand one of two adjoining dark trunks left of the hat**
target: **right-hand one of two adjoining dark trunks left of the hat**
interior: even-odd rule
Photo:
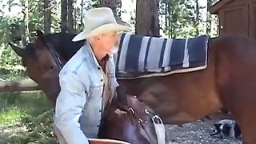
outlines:
[[[74,6],[73,0],[67,0],[67,30],[70,33],[74,33]]]

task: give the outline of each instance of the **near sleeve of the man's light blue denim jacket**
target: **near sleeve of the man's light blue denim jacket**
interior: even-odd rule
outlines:
[[[78,119],[86,102],[86,88],[72,72],[59,76],[61,91],[55,107],[55,125],[68,144],[89,144]]]

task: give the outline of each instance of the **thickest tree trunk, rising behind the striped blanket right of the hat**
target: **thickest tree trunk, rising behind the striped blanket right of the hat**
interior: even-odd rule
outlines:
[[[135,34],[160,36],[158,0],[137,0]]]

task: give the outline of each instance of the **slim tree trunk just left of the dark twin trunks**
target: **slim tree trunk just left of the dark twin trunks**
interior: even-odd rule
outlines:
[[[50,0],[44,0],[44,31],[46,34],[50,33]]]

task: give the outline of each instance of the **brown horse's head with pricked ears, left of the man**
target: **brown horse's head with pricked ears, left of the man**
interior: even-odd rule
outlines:
[[[54,105],[60,90],[58,74],[63,66],[60,60],[62,58],[54,50],[54,42],[50,41],[49,36],[46,37],[42,31],[37,30],[37,38],[25,48],[14,46],[12,42],[9,44],[22,58],[22,65],[26,67],[28,76],[38,83],[39,88]]]

